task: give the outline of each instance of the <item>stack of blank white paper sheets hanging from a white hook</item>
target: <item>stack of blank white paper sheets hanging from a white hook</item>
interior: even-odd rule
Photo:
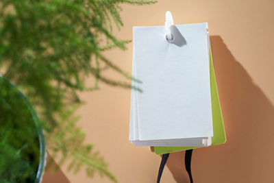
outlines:
[[[208,23],[134,27],[129,140],[135,145],[203,147],[213,136]]]

